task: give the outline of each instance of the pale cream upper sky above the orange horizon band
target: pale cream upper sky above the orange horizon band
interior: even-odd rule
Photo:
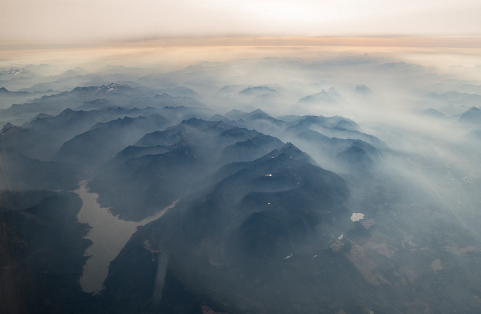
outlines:
[[[0,0],[0,42],[166,36],[481,36],[479,0]]]

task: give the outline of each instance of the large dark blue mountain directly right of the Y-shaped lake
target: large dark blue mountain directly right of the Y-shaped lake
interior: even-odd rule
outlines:
[[[170,281],[157,303],[149,299],[156,295],[156,266],[157,272],[178,278],[197,309],[209,304],[221,311],[230,304],[232,313],[292,311],[299,293],[288,297],[291,305],[270,296],[280,292],[281,282],[300,288],[306,276],[297,268],[299,260],[291,263],[297,258],[284,257],[328,248],[350,222],[343,205],[348,190],[340,177],[310,164],[292,144],[255,161],[225,166],[232,167],[230,175],[221,170],[224,175],[214,176],[223,179],[212,188],[181,200],[179,208],[134,234],[111,263],[105,282],[107,302],[115,311],[135,312],[139,306],[158,311],[168,304],[164,296],[175,289]],[[148,253],[145,243],[158,253]],[[132,254],[139,256],[135,265],[128,258]],[[128,271],[133,268],[143,271]],[[137,291],[135,298],[128,291]]]

